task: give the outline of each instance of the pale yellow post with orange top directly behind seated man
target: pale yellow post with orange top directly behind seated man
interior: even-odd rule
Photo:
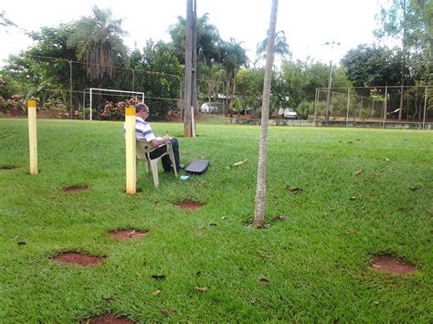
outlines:
[[[135,148],[135,107],[125,109],[126,193],[136,192],[137,162]]]

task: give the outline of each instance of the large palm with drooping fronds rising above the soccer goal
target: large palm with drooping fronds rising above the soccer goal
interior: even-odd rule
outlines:
[[[127,57],[122,36],[121,19],[114,20],[110,9],[92,7],[93,16],[82,17],[68,39],[68,46],[76,49],[79,60],[86,63],[90,78],[101,79],[115,75],[118,59]]]

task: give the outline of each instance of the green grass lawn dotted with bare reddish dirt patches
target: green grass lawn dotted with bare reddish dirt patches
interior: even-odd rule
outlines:
[[[206,174],[183,182],[160,166],[155,190],[141,164],[143,192],[130,196],[121,122],[37,126],[29,175],[26,120],[0,120],[0,168],[16,166],[0,170],[0,322],[433,322],[431,131],[270,128],[269,228],[256,230],[259,127],[199,124],[179,138],[181,160],[209,160]],[[63,193],[70,185],[89,189]],[[130,228],[148,234],[109,235]],[[106,259],[51,259],[64,251]],[[417,272],[372,269],[380,254]]]

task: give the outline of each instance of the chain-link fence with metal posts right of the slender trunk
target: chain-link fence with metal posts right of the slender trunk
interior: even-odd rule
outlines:
[[[422,123],[433,121],[433,87],[319,88],[314,122]]]

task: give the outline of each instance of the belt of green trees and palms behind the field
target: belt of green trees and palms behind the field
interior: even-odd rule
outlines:
[[[396,0],[378,13],[381,26],[376,31],[377,40],[392,38],[399,45],[360,44],[351,49],[341,65],[333,68],[333,87],[431,85],[432,6],[428,0]],[[5,15],[0,16],[0,22],[0,27],[13,27]],[[80,107],[83,100],[79,91],[104,88],[144,91],[154,113],[164,117],[182,97],[185,18],[179,16],[169,30],[170,42],[150,39],[144,48],[130,49],[123,44],[121,20],[115,19],[110,10],[95,6],[91,16],[33,31],[29,37],[35,45],[10,57],[0,70],[0,110],[11,110],[14,104],[7,100],[16,94],[23,99],[37,97],[44,107],[49,100],[69,109],[70,89],[74,91],[73,106]],[[313,57],[293,61],[289,41],[283,31],[277,33],[275,50],[281,63],[273,73],[271,110],[297,108],[305,117],[311,113],[315,89],[328,86],[329,67]],[[222,39],[207,14],[198,17],[199,100],[215,101],[222,95],[227,98],[228,109],[249,107],[259,115],[267,43],[266,38],[259,42],[257,60],[248,61],[241,42]],[[373,95],[385,96],[383,89]],[[369,89],[357,91],[361,96],[370,96],[364,93]],[[431,93],[428,98],[433,98]],[[113,97],[100,96],[97,112],[102,111],[106,100],[117,103]],[[432,107],[430,103],[428,107]],[[409,104],[405,114],[415,116],[417,108]]]

